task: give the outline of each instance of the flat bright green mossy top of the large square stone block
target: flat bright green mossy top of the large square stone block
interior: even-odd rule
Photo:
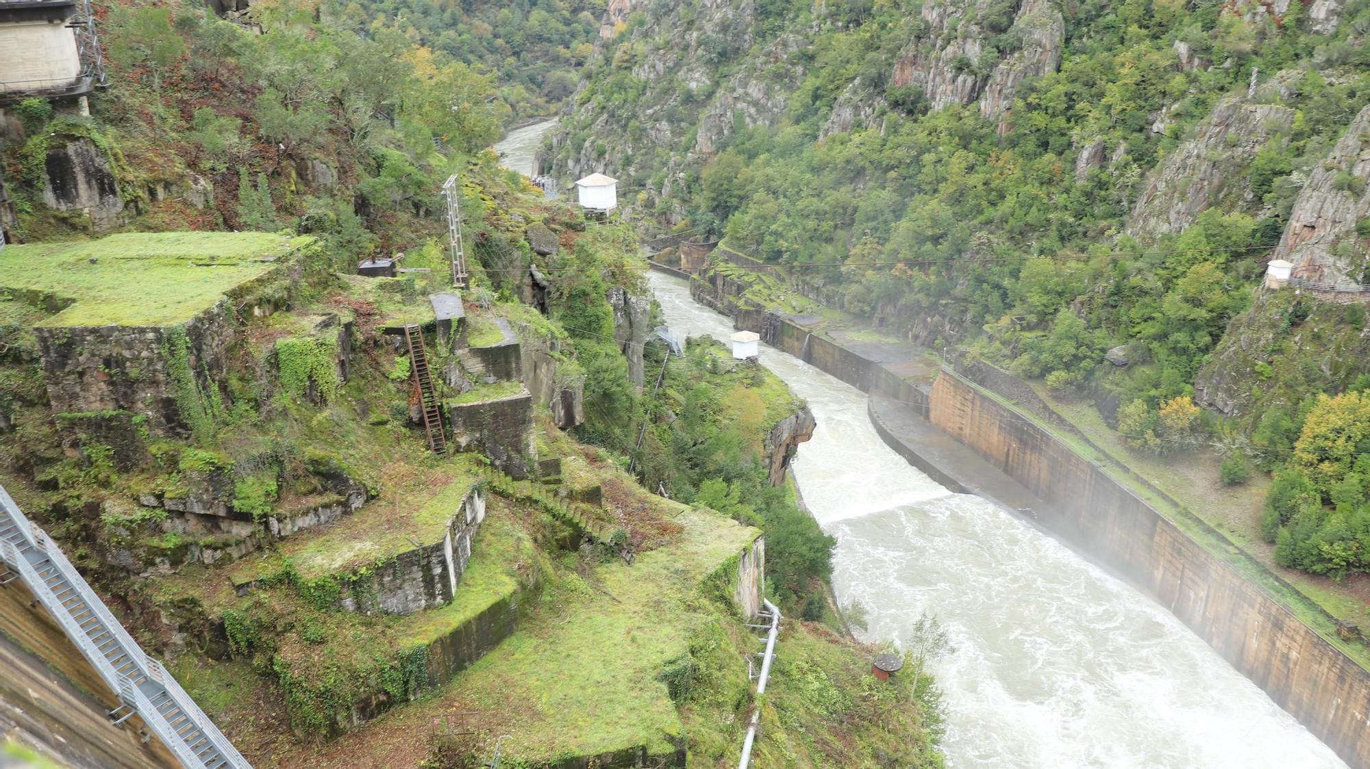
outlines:
[[[70,301],[42,326],[170,326],[312,244],[270,233],[130,233],[0,252],[0,287]]]

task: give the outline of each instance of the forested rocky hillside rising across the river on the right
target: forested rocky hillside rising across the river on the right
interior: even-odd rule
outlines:
[[[630,178],[667,226],[875,326],[1091,397],[1137,452],[1330,483],[1296,442],[1321,393],[1365,386],[1362,308],[1255,298],[1273,253],[1370,282],[1367,174],[1337,149],[1370,120],[1370,4],[767,3],[719,23],[681,1],[630,25],[559,167]],[[1300,196],[1351,211],[1303,257]],[[1302,514],[1281,491],[1266,536],[1282,564],[1365,571],[1326,488]]]

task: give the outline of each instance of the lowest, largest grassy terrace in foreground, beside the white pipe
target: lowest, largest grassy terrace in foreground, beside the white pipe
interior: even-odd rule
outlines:
[[[700,627],[718,621],[700,583],[759,532],[664,504],[681,527],[669,545],[632,566],[611,560],[584,576],[558,569],[519,631],[451,683],[334,742],[279,757],[282,765],[416,765],[425,746],[414,736],[434,722],[511,735],[503,754],[512,765],[633,746],[673,751],[685,727],[662,672],[690,651]]]

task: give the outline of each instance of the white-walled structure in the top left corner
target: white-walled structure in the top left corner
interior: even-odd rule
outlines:
[[[63,92],[82,82],[75,0],[0,1],[0,93]]]

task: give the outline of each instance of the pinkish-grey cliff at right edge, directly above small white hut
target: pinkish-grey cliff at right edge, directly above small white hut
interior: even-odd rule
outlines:
[[[1370,215],[1370,107],[1351,120],[1326,160],[1312,167],[1299,190],[1289,224],[1271,259],[1293,263],[1293,276],[1317,283],[1362,283],[1360,249],[1338,249],[1355,239],[1359,219]]]

